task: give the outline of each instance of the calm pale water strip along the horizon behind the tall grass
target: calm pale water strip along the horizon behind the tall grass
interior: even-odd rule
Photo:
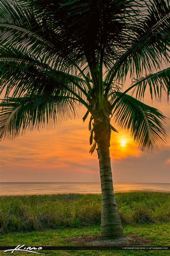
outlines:
[[[114,192],[170,192],[170,183],[114,183]],[[2,182],[0,196],[30,194],[100,194],[100,183],[92,182]]]

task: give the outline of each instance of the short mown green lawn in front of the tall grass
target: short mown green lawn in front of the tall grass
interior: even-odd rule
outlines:
[[[124,234],[136,234],[145,236],[153,242],[148,246],[167,246],[170,244],[169,239],[169,224],[170,223],[144,223],[124,225]],[[97,234],[100,232],[100,226],[88,226],[82,228],[64,228],[56,230],[32,231],[32,232],[12,232],[1,233],[0,244],[3,246],[16,246],[25,244],[27,246],[68,246],[71,243],[65,243],[64,239],[74,237],[76,235]],[[25,255],[21,252],[14,252],[15,255]],[[118,256],[147,256],[169,255],[169,251],[43,251],[41,255],[118,255]],[[28,253],[30,254],[30,253]],[[1,251],[1,256],[6,253]]]

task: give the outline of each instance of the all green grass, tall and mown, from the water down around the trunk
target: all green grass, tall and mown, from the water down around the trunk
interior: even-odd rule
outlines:
[[[124,234],[168,246],[168,193],[115,194]],[[66,238],[100,233],[101,195],[63,194],[0,197],[0,245],[67,246]],[[30,253],[26,253],[30,255]],[[10,253],[0,252],[0,255]],[[14,255],[25,255],[14,252]],[[168,251],[43,251],[42,255],[169,255]]]

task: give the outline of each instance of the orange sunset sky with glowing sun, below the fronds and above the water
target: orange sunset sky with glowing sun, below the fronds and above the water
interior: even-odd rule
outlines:
[[[149,93],[144,102],[158,108],[170,118],[167,98],[153,101]],[[79,116],[63,121],[60,126],[41,131],[28,131],[14,140],[1,142],[1,182],[99,182],[97,152],[89,153],[88,120],[82,117],[86,109],[81,107]],[[130,134],[112,121],[119,133],[112,132],[110,158],[114,182],[170,182],[170,139],[163,149],[155,153],[143,153]],[[170,134],[170,121],[166,123]]]

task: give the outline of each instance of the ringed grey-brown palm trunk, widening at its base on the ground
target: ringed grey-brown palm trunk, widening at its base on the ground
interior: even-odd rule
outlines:
[[[101,180],[101,235],[118,238],[123,236],[123,228],[115,203],[112,169],[110,164],[109,147],[98,147],[98,158]]]

